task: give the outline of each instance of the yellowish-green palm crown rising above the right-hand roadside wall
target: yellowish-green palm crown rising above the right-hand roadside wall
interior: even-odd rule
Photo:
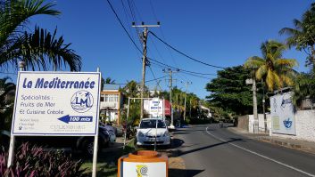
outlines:
[[[285,84],[294,84],[295,71],[293,68],[298,63],[294,59],[282,58],[285,50],[285,44],[269,40],[261,44],[262,58],[253,56],[245,62],[245,68],[254,69],[255,79],[264,80],[269,91],[282,88]]]

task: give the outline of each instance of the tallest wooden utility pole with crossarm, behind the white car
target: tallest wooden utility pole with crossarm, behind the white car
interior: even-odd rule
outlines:
[[[132,27],[134,28],[145,28],[144,32],[141,36],[141,41],[143,43],[143,56],[142,56],[142,82],[141,82],[141,98],[144,98],[145,96],[145,66],[147,65],[148,60],[146,59],[146,54],[147,54],[147,50],[146,50],[146,42],[147,42],[147,35],[149,32],[149,27],[160,27],[160,22],[158,22],[157,25],[145,25],[144,22],[141,23],[141,25],[136,25],[135,22],[132,22]],[[141,113],[140,113],[140,120],[144,118],[144,100],[141,99],[141,103],[140,103],[140,109],[141,109]]]

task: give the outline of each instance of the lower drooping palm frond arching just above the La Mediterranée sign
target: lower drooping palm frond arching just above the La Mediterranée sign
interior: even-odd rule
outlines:
[[[61,37],[56,38],[57,29],[53,35],[43,28],[35,28],[34,33],[25,32],[10,48],[10,52],[0,53],[0,67],[10,62],[13,67],[18,67],[18,61],[26,62],[27,68],[32,70],[53,66],[54,69],[69,66],[71,71],[81,69],[81,58],[70,49],[70,44],[64,44]]]

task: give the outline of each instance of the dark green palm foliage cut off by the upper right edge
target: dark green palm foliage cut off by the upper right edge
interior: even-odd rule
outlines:
[[[295,46],[299,51],[306,52],[308,56],[307,64],[312,64],[315,68],[315,3],[311,8],[303,13],[302,20],[293,20],[294,28],[282,28],[280,35],[286,34],[286,44],[289,47]]]

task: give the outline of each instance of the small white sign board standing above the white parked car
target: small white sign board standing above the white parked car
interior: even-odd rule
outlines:
[[[164,106],[163,106],[163,100],[154,98],[152,100],[145,100],[144,101],[144,108],[145,111],[150,114],[152,117],[162,117]]]

